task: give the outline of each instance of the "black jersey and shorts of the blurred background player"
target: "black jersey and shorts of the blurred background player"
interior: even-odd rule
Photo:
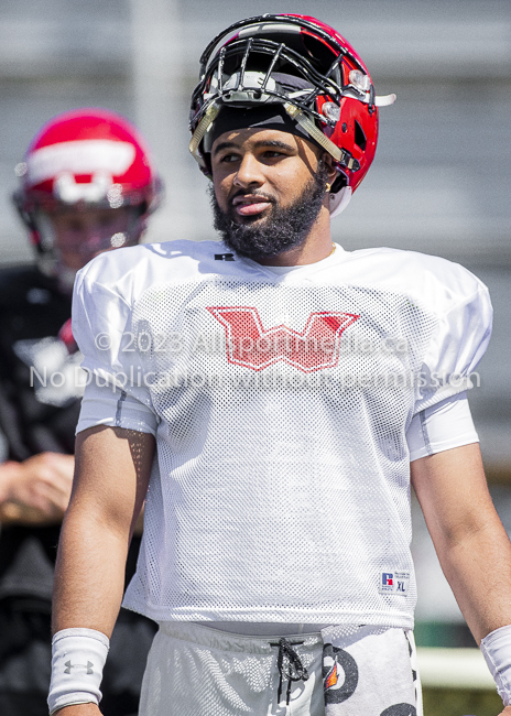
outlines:
[[[35,267],[0,271],[0,462],[73,454],[83,375],[70,296]],[[0,714],[47,716],[51,599],[59,525],[0,528]],[[140,539],[128,558],[134,571]],[[137,714],[155,625],[121,609],[101,686],[106,716]]]

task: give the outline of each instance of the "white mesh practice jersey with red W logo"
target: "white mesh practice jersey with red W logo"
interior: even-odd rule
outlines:
[[[157,443],[124,606],[412,627],[406,430],[470,388],[490,325],[483,284],[420,253],[338,247],[287,271],[217,242],[97,257],[75,288],[83,367],[115,390],[109,424]]]

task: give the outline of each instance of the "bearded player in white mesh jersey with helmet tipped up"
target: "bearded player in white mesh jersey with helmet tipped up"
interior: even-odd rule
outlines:
[[[91,380],[51,713],[100,713],[146,499],[123,600],[160,623],[141,716],[422,714],[413,484],[511,714],[511,546],[465,394],[488,292],[443,259],[331,241],[393,99],[314,18],[235,23],[203,54],[191,112],[222,243],[135,247],[79,273]]]

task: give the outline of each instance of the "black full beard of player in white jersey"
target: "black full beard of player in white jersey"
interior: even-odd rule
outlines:
[[[220,232],[229,249],[256,261],[295,249],[304,243],[317,219],[326,195],[327,178],[326,165],[320,161],[316,173],[291,206],[282,208],[272,199],[273,206],[267,218],[249,219],[243,224],[238,224],[229,213],[222,211],[211,186],[209,192],[215,229]]]

